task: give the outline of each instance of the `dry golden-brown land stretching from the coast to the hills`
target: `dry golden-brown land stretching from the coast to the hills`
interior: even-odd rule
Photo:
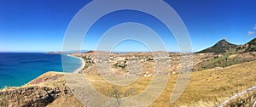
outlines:
[[[255,39],[236,47],[233,44],[227,47],[225,45],[229,43],[221,41],[214,45],[224,47],[221,52],[214,52],[216,47],[213,46],[199,53],[73,53],[73,56],[84,59],[82,70],[77,73],[50,71],[24,86],[3,88],[0,91],[0,106],[82,107],[84,105],[73,94],[77,90],[68,87],[79,87],[79,83],[68,84],[68,76],[73,76],[73,80],[87,78],[99,93],[122,99],[142,93],[156,74],[170,76],[162,93],[150,106],[216,106],[237,93],[256,86]],[[158,53],[167,54],[167,57],[156,56]],[[193,59],[192,62],[189,58]],[[186,61],[181,61],[182,59]],[[161,63],[156,63],[157,60]],[[170,104],[182,63],[186,65],[184,68],[192,68],[188,70],[191,71],[189,84],[180,98]],[[155,72],[158,67],[163,69]],[[137,80],[127,86],[117,86],[102,78],[109,73],[124,79],[137,77]],[[255,94],[255,90],[242,94],[224,106],[253,106]]]

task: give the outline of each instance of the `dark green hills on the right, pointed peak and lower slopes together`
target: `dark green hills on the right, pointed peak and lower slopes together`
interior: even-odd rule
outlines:
[[[230,65],[253,61],[256,59],[256,38],[240,46],[221,40],[211,48],[202,50],[199,53],[206,52],[215,53],[218,56],[204,62],[198,70],[207,70],[216,67],[224,68]]]

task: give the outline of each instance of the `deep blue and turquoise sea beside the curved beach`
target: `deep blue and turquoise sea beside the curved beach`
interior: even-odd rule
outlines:
[[[72,72],[81,65],[80,59],[62,57],[65,72]],[[63,71],[61,54],[0,53],[0,88],[24,85],[48,71]]]

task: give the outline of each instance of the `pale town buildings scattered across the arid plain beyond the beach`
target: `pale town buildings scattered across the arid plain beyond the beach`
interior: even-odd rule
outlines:
[[[209,57],[210,56],[210,57]],[[109,54],[95,54],[95,53],[83,53],[84,69],[98,63],[106,63],[113,69],[121,68],[125,70],[127,75],[125,76],[153,76],[155,73],[177,73],[181,68],[196,68],[196,65],[201,65],[204,61],[213,59],[211,54],[182,54],[182,53],[169,53],[168,56],[158,55],[154,56],[152,53],[109,53]],[[183,62],[181,62],[183,61]],[[136,63],[136,65],[131,65]],[[145,71],[143,73],[136,71],[137,74],[132,74],[131,70],[138,70],[138,67],[142,67],[145,63],[152,63],[156,67],[155,69],[161,69],[159,72]],[[141,65],[141,66],[139,66]],[[104,67],[104,66],[101,66]],[[154,68],[154,67],[152,67]],[[106,69],[107,70],[107,69]]]

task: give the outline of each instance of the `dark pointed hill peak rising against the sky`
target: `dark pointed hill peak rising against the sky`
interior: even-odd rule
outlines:
[[[211,48],[204,49],[198,53],[226,53],[235,48],[237,48],[237,45],[227,42],[223,39],[214,44]]]

